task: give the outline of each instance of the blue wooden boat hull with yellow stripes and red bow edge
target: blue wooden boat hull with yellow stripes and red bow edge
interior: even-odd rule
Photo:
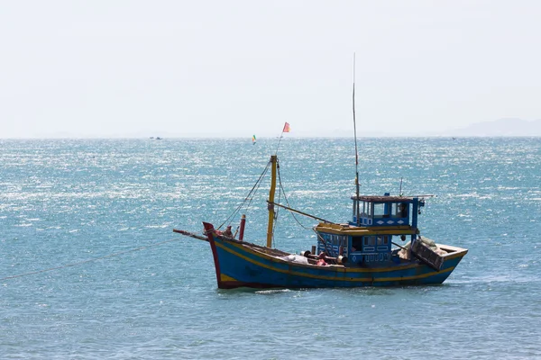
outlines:
[[[468,250],[447,247],[440,271],[417,261],[381,267],[315,266],[287,260],[289,253],[216,235],[204,223],[220,289],[324,288],[442,284]],[[445,248],[444,245],[440,247]]]

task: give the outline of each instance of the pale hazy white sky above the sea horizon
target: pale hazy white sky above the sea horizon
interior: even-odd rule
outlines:
[[[541,118],[537,1],[0,0],[0,138]]]

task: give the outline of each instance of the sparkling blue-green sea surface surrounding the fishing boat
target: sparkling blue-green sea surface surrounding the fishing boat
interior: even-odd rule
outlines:
[[[359,139],[361,192],[435,194],[421,234],[469,249],[442,285],[218,290],[208,244],[172,229],[222,224],[277,145],[0,140],[0,358],[541,358],[540,138]],[[278,155],[291,207],[351,217],[353,139]],[[280,211],[274,246],[309,249],[313,225]]]

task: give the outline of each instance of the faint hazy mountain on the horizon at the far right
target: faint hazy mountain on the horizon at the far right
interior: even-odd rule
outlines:
[[[445,131],[447,136],[541,136],[541,119],[526,121],[504,118],[474,123],[463,129]]]

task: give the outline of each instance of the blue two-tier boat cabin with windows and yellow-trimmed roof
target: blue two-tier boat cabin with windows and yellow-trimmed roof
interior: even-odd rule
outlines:
[[[347,224],[321,223],[317,254],[347,257],[346,266],[389,266],[400,259],[392,244],[417,237],[417,217],[425,205],[419,197],[353,196],[353,218]]]

